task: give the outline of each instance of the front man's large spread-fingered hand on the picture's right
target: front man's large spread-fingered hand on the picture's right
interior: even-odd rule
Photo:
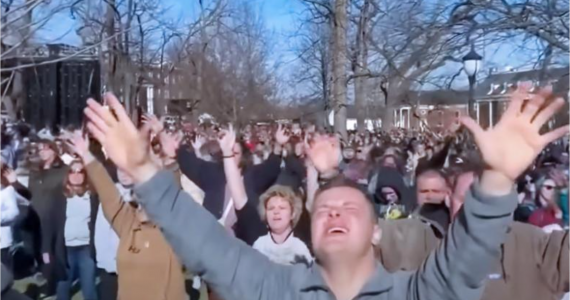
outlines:
[[[483,130],[471,118],[461,120],[473,133],[487,168],[493,172],[492,179],[487,180],[492,189],[507,192],[507,185],[512,187],[546,145],[570,132],[570,126],[564,126],[544,135],[539,133],[564,105],[564,100],[557,98],[547,102],[552,98],[552,88],[530,94],[529,87],[524,84],[511,95],[509,107],[493,128]],[[527,99],[528,103],[523,106]]]

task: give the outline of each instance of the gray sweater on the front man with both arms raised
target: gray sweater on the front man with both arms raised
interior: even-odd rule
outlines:
[[[224,299],[335,299],[318,264],[282,266],[230,237],[217,220],[161,171],[135,188],[137,199],[163,230],[184,265]],[[481,297],[500,256],[517,205],[514,193],[488,197],[477,186],[441,246],[416,272],[390,274],[381,265],[355,299],[466,299]]]

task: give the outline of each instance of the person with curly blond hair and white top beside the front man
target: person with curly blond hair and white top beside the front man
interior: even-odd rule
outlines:
[[[279,264],[310,264],[313,259],[309,249],[293,234],[302,210],[303,201],[291,188],[279,185],[270,188],[259,201],[259,214],[269,232],[253,243],[253,249]]]

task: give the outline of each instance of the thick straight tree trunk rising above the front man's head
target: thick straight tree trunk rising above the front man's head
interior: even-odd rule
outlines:
[[[333,23],[333,101],[334,101],[334,129],[343,138],[346,133],[346,32],[347,32],[347,0],[335,1]]]

